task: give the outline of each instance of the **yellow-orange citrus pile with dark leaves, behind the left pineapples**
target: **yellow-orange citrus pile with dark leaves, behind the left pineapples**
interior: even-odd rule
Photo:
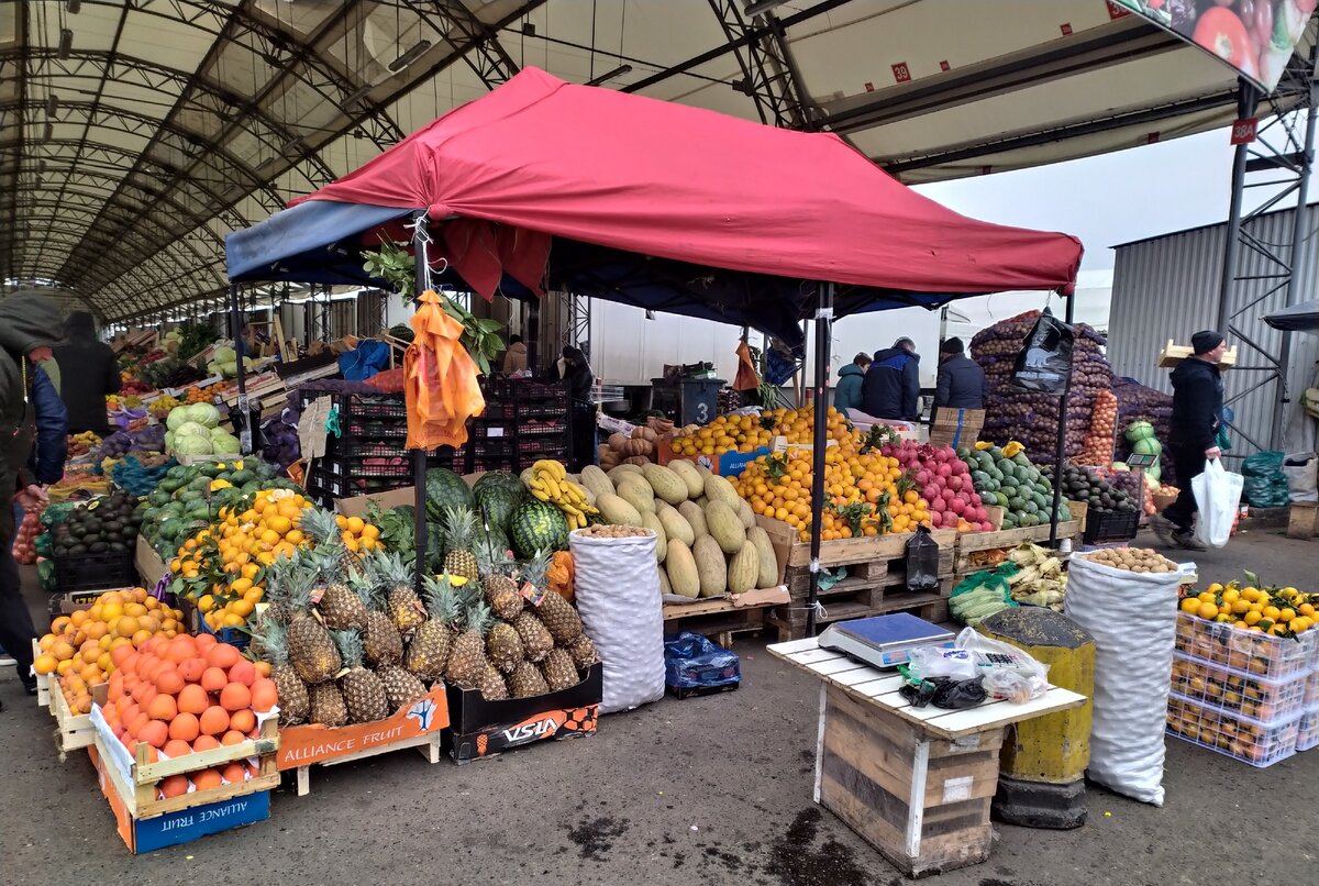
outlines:
[[[302,514],[313,504],[290,489],[259,492],[251,506],[223,508],[219,519],[183,542],[170,570],[181,591],[212,632],[240,628],[265,596],[265,568],[293,556],[313,539],[302,531]],[[380,529],[360,517],[338,516],[339,535],[352,552],[381,547]]]

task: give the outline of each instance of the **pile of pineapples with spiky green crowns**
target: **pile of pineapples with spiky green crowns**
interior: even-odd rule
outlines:
[[[443,680],[489,700],[575,686],[599,661],[571,603],[546,588],[547,551],[524,564],[474,545],[471,510],[448,514],[445,575],[413,589],[397,554],[350,552],[310,510],[302,529],[323,539],[270,567],[268,606],[252,647],[270,664],[284,725],[381,720]],[[425,600],[423,600],[423,599]]]

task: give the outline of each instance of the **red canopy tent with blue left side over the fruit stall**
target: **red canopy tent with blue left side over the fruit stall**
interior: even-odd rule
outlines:
[[[836,136],[525,69],[230,235],[230,278],[367,282],[361,248],[410,215],[434,222],[435,253],[487,298],[497,287],[539,294],[547,282],[790,341],[814,316],[819,435],[835,315],[1070,291],[1082,257],[1075,237],[958,215]],[[823,452],[818,446],[816,551]]]

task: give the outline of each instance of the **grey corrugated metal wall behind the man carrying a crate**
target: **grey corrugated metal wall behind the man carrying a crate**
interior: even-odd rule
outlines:
[[[1261,216],[1248,231],[1273,247],[1289,248],[1294,210]],[[1306,229],[1319,227],[1319,207],[1306,210]],[[1153,240],[1142,240],[1117,247],[1113,273],[1113,303],[1109,312],[1108,360],[1113,372],[1129,376],[1159,390],[1171,392],[1169,370],[1158,368],[1158,355],[1169,339],[1190,344],[1198,330],[1213,328],[1217,322],[1219,280],[1223,265],[1223,245],[1227,224],[1170,233]],[[1319,278],[1319,249],[1308,244],[1301,273],[1299,299],[1315,297]],[[1240,251],[1240,277],[1278,273],[1277,265],[1253,249]],[[1286,252],[1282,252],[1286,254]],[[1277,280],[1240,281],[1232,310],[1236,311],[1264,295],[1277,285]],[[1265,314],[1286,306],[1286,287],[1273,293],[1254,307],[1237,315],[1232,323],[1272,355],[1277,355],[1282,334],[1261,319]],[[1268,361],[1253,348],[1228,336],[1239,348],[1242,367],[1266,365]],[[1314,373],[1319,359],[1319,336],[1297,332],[1291,336],[1291,360],[1287,367],[1289,392],[1293,401]],[[1258,384],[1269,373],[1233,369],[1224,374],[1224,398]],[[1273,415],[1278,406],[1278,386],[1272,382],[1236,402],[1235,425],[1245,435],[1262,446],[1269,446]],[[1295,409],[1293,402],[1289,410]],[[1291,411],[1287,413],[1290,421]],[[1254,447],[1241,435],[1233,436],[1235,456],[1249,455]]]

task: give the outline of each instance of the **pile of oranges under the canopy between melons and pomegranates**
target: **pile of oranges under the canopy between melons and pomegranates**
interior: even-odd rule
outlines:
[[[803,410],[793,413],[793,427]],[[811,422],[794,434],[810,439]],[[860,434],[847,427],[845,419],[828,410],[828,439],[824,450],[824,513],[820,535],[824,541],[907,533],[929,525],[930,506],[904,475],[898,460],[878,450],[863,448]],[[811,450],[787,450],[780,455],[760,456],[740,477],[732,480],[737,493],[757,514],[781,519],[798,530],[802,541],[810,538],[811,484],[814,480]]]

